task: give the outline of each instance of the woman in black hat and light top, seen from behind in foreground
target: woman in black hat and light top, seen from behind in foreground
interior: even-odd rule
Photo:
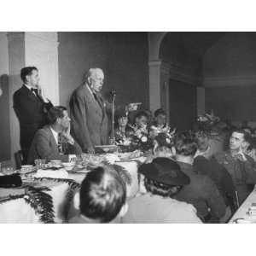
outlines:
[[[173,160],[156,158],[139,167],[139,192],[129,202],[123,223],[201,223],[195,207],[172,199],[189,183]]]

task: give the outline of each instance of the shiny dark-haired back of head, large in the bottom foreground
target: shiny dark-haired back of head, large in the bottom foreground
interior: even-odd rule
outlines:
[[[100,223],[111,222],[126,200],[125,183],[109,166],[100,166],[84,178],[80,189],[80,212]]]

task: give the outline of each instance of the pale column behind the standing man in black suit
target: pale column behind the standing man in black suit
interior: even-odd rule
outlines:
[[[11,158],[20,149],[20,125],[13,109],[13,95],[22,85],[20,69],[38,67],[44,94],[59,104],[59,72],[57,32],[9,32],[9,116]]]

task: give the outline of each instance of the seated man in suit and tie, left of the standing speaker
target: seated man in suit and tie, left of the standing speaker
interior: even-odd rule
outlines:
[[[81,154],[82,150],[70,135],[70,118],[67,108],[50,108],[48,123],[37,131],[28,154],[28,163],[36,159],[68,161],[68,154]]]

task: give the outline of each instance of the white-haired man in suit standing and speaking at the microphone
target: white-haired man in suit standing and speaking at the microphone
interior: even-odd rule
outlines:
[[[95,153],[94,146],[108,143],[108,115],[112,105],[105,102],[100,91],[104,82],[101,68],[90,68],[84,84],[73,91],[70,100],[72,135],[84,152]],[[130,103],[128,110],[137,110]]]

